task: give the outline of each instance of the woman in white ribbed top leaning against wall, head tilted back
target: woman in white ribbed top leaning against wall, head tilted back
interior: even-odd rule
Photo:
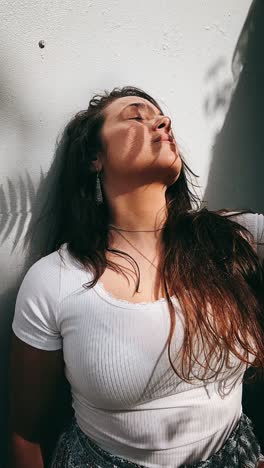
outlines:
[[[65,136],[54,240],[12,325],[12,467],[44,466],[64,372],[74,415],[52,468],[260,466],[241,395],[264,364],[264,216],[199,209],[141,89],[95,96]]]

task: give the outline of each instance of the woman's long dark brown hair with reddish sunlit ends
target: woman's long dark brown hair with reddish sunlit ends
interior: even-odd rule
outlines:
[[[145,98],[162,112],[149,94],[133,86],[96,94],[88,108],[75,114],[65,127],[55,197],[45,215],[49,217],[48,241],[39,252],[39,258],[67,243],[75,260],[93,272],[93,280],[83,285],[87,288],[96,284],[106,267],[125,275],[120,266],[106,258],[107,251],[130,257],[109,248],[109,209],[105,198],[102,204],[96,201],[96,173],[91,169],[91,161],[97,158],[99,151],[104,151],[101,129],[106,106],[124,96]],[[210,379],[217,377],[224,366],[228,367],[230,353],[238,358],[238,367],[246,363],[248,367],[263,369],[264,275],[263,264],[253,248],[253,236],[231,219],[228,210],[201,208],[199,197],[188,185],[194,184],[186,175],[195,174],[181,153],[180,157],[180,176],[166,190],[168,215],[162,230],[165,252],[162,281],[171,320],[170,364],[176,374],[188,382],[192,381],[193,358],[205,371],[202,376],[195,376],[200,380],[207,379],[208,370],[213,371]],[[250,210],[240,211],[244,212]],[[130,259],[136,264],[132,257]],[[138,266],[137,271],[139,273]],[[170,351],[176,325],[171,291],[185,317],[181,373],[173,366]],[[202,362],[194,353],[193,343],[197,337],[203,343]],[[253,354],[254,362],[249,360],[248,353]],[[211,367],[213,358],[217,365]],[[251,375],[251,381],[255,376],[256,372]]]

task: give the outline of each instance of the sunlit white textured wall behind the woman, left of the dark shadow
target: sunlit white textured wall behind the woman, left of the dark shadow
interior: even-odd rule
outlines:
[[[7,315],[23,264],[24,231],[18,226],[26,228],[30,216],[27,173],[37,187],[59,131],[94,93],[134,85],[152,94],[172,118],[204,193],[215,133],[232,89],[231,59],[250,4],[1,0],[1,335],[10,326]],[[212,112],[219,92],[225,102]]]

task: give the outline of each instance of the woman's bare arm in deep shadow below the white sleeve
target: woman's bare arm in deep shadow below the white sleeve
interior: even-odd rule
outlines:
[[[9,384],[8,468],[43,468],[45,433],[65,384],[62,350],[34,348],[13,333]]]

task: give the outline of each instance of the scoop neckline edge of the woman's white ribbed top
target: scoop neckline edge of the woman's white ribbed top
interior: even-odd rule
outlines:
[[[167,300],[165,297],[160,297],[156,301],[143,301],[143,302],[130,302],[126,299],[121,299],[113,296],[109,291],[107,291],[104,285],[101,283],[100,280],[93,287],[94,291],[106,302],[115,305],[116,307],[121,307],[124,309],[139,309],[139,308],[149,308],[149,307],[160,307],[161,304],[166,304]],[[174,301],[176,299],[175,296],[171,296],[170,299]]]

